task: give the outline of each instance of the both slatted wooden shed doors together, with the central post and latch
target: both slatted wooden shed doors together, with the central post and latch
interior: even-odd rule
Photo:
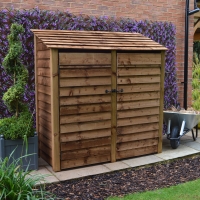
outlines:
[[[59,53],[61,169],[161,149],[162,60],[160,53]]]

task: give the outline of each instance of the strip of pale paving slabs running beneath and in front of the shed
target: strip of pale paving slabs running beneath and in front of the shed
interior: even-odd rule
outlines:
[[[200,130],[199,130],[200,134]],[[45,161],[39,159],[39,170],[32,173],[47,175],[47,183],[56,183],[70,179],[76,179],[101,173],[109,173],[117,170],[140,167],[153,163],[166,162],[168,160],[192,156],[200,153],[200,137],[193,141],[192,134],[187,133],[180,140],[180,145],[177,149],[172,149],[169,140],[166,136],[163,137],[163,151],[159,154],[148,156],[141,156],[132,159],[124,159],[115,163],[104,163],[99,165],[92,165],[82,168],[75,168],[64,170],[61,172],[54,172],[52,167]]]

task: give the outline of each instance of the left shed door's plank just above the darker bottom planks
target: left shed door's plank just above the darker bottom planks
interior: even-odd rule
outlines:
[[[94,138],[109,137],[111,135],[110,128],[101,130],[91,130],[85,132],[64,133],[60,135],[60,142],[71,142]]]

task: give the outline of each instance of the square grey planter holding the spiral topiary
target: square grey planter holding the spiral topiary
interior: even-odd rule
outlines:
[[[22,139],[17,140],[5,140],[3,135],[0,135],[0,159],[9,157],[12,154],[12,158],[17,159],[24,156],[26,153],[26,145]],[[35,134],[33,137],[28,138],[28,156],[22,158],[23,170],[37,170],[38,169],[38,136]],[[12,162],[12,160],[10,161]]]

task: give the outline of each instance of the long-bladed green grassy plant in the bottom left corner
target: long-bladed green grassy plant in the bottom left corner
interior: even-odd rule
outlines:
[[[31,174],[31,171],[28,170],[22,171],[20,162],[23,157],[14,160],[12,154],[9,158],[0,159],[0,199],[53,200],[53,195],[45,192],[42,186],[36,187],[37,184],[44,182],[45,177],[39,174]],[[11,162],[9,162],[10,160]]]

